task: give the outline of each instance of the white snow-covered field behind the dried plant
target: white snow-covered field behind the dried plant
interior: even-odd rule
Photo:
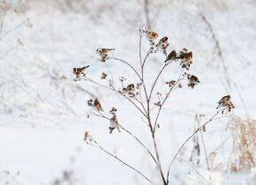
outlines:
[[[170,167],[169,185],[253,185],[255,168],[243,173],[228,170],[232,140],[226,127],[233,116],[256,117],[256,1],[148,2],[157,40],[169,37],[168,52],[192,50],[189,72],[200,78],[194,89],[184,83],[171,93],[162,109],[156,140],[164,173],[192,134],[196,114],[204,114],[202,122],[206,122],[215,114],[218,100],[227,94],[236,106],[228,115],[218,115],[221,118],[210,122],[202,133],[207,155],[216,154],[212,170],[207,170],[203,148],[200,164],[190,161],[190,140]],[[117,159],[88,145],[86,130],[106,150],[139,169],[154,184],[162,184],[147,151],[131,136],[124,130],[109,134],[108,120],[87,118],[87,100],[100,100],[107,117],[111,116],[109,109],[117,107],[119,123],[153,152],[149,129],[139,111],[117,93],[84,80],[73,81],[72,76],[74,67],[90,65],[87,77],[104,85],[108,82],[100,78],[102,71],[117,88],[121,87],[120,77],[127,78],[125,84],[139,82],[123,63],[101,63],[95,51],[116,48],[112,55],[139,70],[139,26],[146,25],[144,1],[0,0],[0,4],[0,185],[149,184]],[[8,11],[3,4],[8,4]],[[148,48],[144,37],[143,56]],[[149,56],[148,87],[164,60],[160,52]],[[154,93],[167,92],[164,82],[177,79],[180,71],[178,63],[171,63]]]

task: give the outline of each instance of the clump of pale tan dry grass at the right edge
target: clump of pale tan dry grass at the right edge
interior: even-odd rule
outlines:
[[[231,172],[244,172],[256,167],[256,120],[234,117],[228,124],[233,141],[228,163]]]

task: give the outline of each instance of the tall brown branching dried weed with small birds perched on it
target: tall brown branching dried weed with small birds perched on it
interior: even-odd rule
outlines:
[[[179,152],[181,152],[182,148],[185,144],[188,143],[194,136],[197,135],[197,133],[200,130],[206,131],[206,126],[209,122],[212,122],[217,115],[221,115],[223,111],[230,112],[232,108],[234,108],[233,104],[231,103],[231,100],[222,102],[222,100],[219,101],[219,106],[217,107],[217,111],[215,114],[210,117],[209,120],[207,120],[204,123],[201,123],[200,125],[197,125],[195,130],[193,131],[192,135],[188,137],[184,143],[181,145],[179,150],[177,151],[176,155],[170,159],[169,167],[167,170],[164,170],[162,168],[162,159],[159,152],[159,145],[156,142],[156,131],[158,128],[160,128],[160,123],[158,122],[160,115],[162,115],[162,107],[166,105],[167,100],[169,99],[170,93],[177,89],[181,89],[184,87],[183,84],[188,85],[192,89],[200,83],[200,80],[195,75],[191,75],[188,73],[188,70],[190,70],[190,67],[192,65],[192,51],[189,51],[186,48],[183,48],[181,51],[177,52],[175,50],[171,50],[169,52],[169,55],[167,55],[168,52],[168,37],[163,36],[159,41],[157,41],[158,33],[149,30],[147,27],[141,27],[139,28],[139,70],[136,70],[138,66],[134,67],[131,63],[126,62],[123,59],[114,57],[110,55],[110,52],[114,50],[114,48],[98,48],[96,50],[96,53],[100,56],[100,61],[103,63],[110,63],[110,62],[119,62],[124,63],[130,70],[134,72],[136,75],[136,80],[133,80],[132,83],[126,83],[128,79],[125,77],[118,78],[121,82],[122,86],[116,86],[114,84],[113,79],[109,78],[109,76],[102,71],[101,79],[104,79],[103,81],[99,82],[97,80],[94,80],[90,78],[89,72],[87,72],[87,76],[82,75],[79,79],[76,78],[76,74],[74,74],[75,79],[78,80],[85,80],[86,82],[92,83],[96,86],[102,87],[106,90],[109,90],[110,92],[116,93],[117,95],[124,98],[124,100],[128,100],[130,102],[130,105],[132,107],[135,107],[139,114],[141,115],[144,122],[147,122],[148,127],[148,136],[151,137],[152,143],[154,145],[154,152],[150,150],[150,148],[141,142],[139,137],[135,136],[132,131],[127,130],[124,128],[124,125],[122,122],[117,121],[117,108],[112,107],[108,112],[103,112],[102,105],[99,100],[87,100],[87,105],[89,107],[93,107],[89,109],[88,115],[93,115],[102,119],[105,119],[109,122],[109,133],[114,134],[117,132],[114,132],[114,130],[118,130],[121,132],[121,134],[128,134],[130,137],[134,139],[135,142],[137,142],[142,149],[146,150],[148,153],[148,156],[152,161],[154,162],[154,165],[156,167],[156,173],[160,174],[160,181],[163,185],[169,184],[169,170],[175,159],[177,159],[177,155]],[[142,45],[142,37],[146,37],[149,41],[149,48],[147,50],[147,54],[142,57],[142,51],[141,51],[141,45]],[[162,61],[162,69],[159,70],[156,77],[153,79],[145,78],[145,73],[147,72],[146,66],[147,66],[147,60],[150,55],[154,55],[156,52],[163,53],[165,59]],[[161,83],[162,73],[164,70],[167,70],[167,67],[169,65],[176,65],[175,63],[178,62],[180,64],[180,67],[177,67],[180,69],[180,73],[177,76],[177,79],[169,79],[168,81],[163,83],[162,85],[169,85],[169,88],[167,92],[162,93],[161,91],[156,90],[156,86]],[[102,83],[103,82],[103,83]],[[108,84],[106,84],[106,82]],[[162,89],[162,88],[161,88]],[[160,90],[161,90],[160,89]],[[223,98],[222,98],[223,99]],[[90,116],[88,116],[90,117]],[[123,163],[124,166],[131,168],[133,171],[141,175],[144,179],[146,179],[151,184],[154,184],[153,180],[150,180],[146,174],[142,173],[135,167],[132,167],[128,163],[124,162],[123,159],[120,159],[116,154],[113,154],[109,151],[107,151],[101,144],[99,144],[94,137],[92,137],[87,131],[85,132],[84,140],[87,142],[87,144],[91,144],[100,150],[102,152],[105,152],[109,154],[109,156],[113,157],[114,159],[117,159],[119,162]],[[166,161],[168,162],[168,161]]]

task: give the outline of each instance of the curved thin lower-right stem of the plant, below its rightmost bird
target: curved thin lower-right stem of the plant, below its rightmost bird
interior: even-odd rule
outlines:
[[[219,115],[219,113],[221,113],[223,110],[225,110],[226,108],[219,108],[217,110],[217,112],[215,113],[215,115],[213,115],[207,122],[203,123],[197,130],[195,130],[192,135],[190,137],[187,137],[187,139],[184,141],[184,143],[179,147],[177,153],[175,154],[174,158],[171,159],[170,163],[169,163],[169,167],[168,167],[168,172],[167,172],[167,181],[169,182],[169,170],[170,170],[170,167],[171,165],[173,164],[173,162],[175,161],[175,159],[177,158],[177,155],[179,154],[179,152],[181,152],[181,150],[183,149],[184,145],[187,144],[187,142],[197,133],[199,132],[200,130],[202,130],[203,127],[205,127],[209,122],[212,122],[213,119],[215,118],[216,115]]]

